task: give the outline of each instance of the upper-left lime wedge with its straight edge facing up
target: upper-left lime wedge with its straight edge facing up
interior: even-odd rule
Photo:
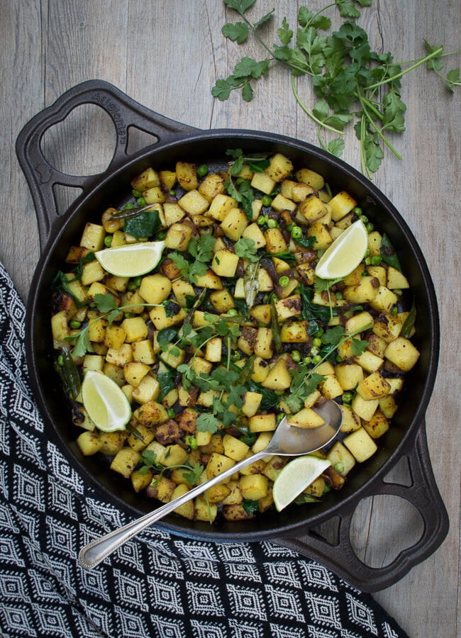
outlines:
[[[139,242],[116,248],[104,248],[94,253],[107,272],[119,277],[137,277],[153,270],[160,258],[165,242]]]

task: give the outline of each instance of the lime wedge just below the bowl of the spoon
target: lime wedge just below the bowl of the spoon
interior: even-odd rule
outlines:
[[[275,478],[272,488],[274,505],[278,512],[301,494],[308,485],[322,474],[331,462],[317,457],[298,457],[289,461]]]

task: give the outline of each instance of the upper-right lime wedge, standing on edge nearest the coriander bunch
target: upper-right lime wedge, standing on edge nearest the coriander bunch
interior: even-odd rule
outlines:
[[[323,253],[316,265],[321,279],[342,279],[355,270],[365,257],[368,233],[362,220],[345,229]]]

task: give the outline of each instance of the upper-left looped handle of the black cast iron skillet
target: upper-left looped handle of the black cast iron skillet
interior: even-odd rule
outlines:
[[[57,184],[74,186],[85,191],[100,175],[74,176],[62,173],[45,159],[40,142],[45,132],[62,122],[77,106],[94,104],[111,117],[116,130],[116,147],[105,173],[126,162],[129,155],[130,126],[155,135],[157,142],[192,133],[195,128],[170,120],[140,105],[123,91],[104,80],[94,79],[77,84],[60,96],[55,103],[34,116],[21,130],[16,140],[16,155],[26,176],[38,220],[40,247],[43,249],[55,226],[60,225],[53,189]]]

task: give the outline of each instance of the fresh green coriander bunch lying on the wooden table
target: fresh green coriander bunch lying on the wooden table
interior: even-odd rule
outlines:
[[[298,11],[296,33],[287,18],[277,30],[278,43],[269,45],[260,35],[260,27],[274,17],[274,9],[252,23],[245,16],[256,0],[223,0],[229,9],[239,13],[242,21],[227,23],[223,35],[239,45],[252,35],[269,54],[264,60],[243,57],[233,74],[218,79],[211,93],[226,100],[231,91],[241,90],[245,101],[253,96],[257,79],[267,75],[277,65],[291,74],[291,89],[296,102],[317,124],[318,142],[333,155],[342,155],[343,135],[347,125],[354,127],[360,141],[360,165],[370,177],[379,169],[387,148],[402,159],[389,140],[389,133],[404,133],[406,105],[401,99],[401,78],[421,65],[426,65],[443,80],[453,93],[460,86],[460,69],[443,72],[444,60],[456,52],[444,53],[443,46],[433,46],[426,40],[426,55],[409,62],[395,62],[390,53],[380,54],[370,47],[367,32],[355,23],[360,9],[372,6],[372,0],[336,0],[313,12],[308,6]],[[327,11],[337,9],[344,18],[338,30],[332,30]],[[301,101],[296,89],[296,77],[311,78],[316,101],[311,108]],[[328,135],[335,137],[326,141]]]

